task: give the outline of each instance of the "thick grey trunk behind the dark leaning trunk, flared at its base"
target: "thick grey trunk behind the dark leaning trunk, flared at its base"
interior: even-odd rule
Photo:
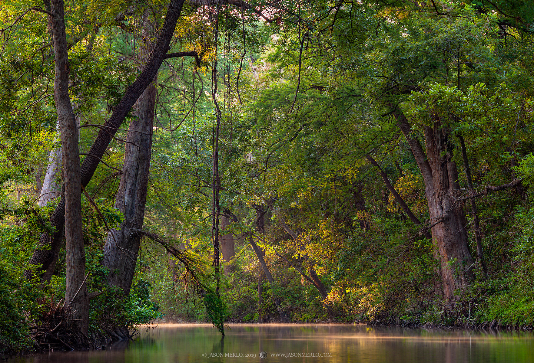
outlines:
[[[147,11],[144,14],[143,26],[143,43],[138,56],[141,71],[144,70],[146,60],[153,50],[155,34],[155,25],[148,20]],[[119,230],[112,229],[108,232],[104,245],[102,264],[109,269],[108,285],[122,288],[126,295],[130,293],[141,241],[140,235],[131,229],[143,229],[157,83],[156,75],[154,82],[148,85],[134,106],[115,201],[115,208],[124,213],[124,222]]]

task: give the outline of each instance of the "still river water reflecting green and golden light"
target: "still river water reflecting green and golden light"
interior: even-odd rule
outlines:
[[[266,358],[260,358],[260,352]],[[140,328],[106,350],[51,352],[10,362],[534,362],[534,334],[353,324]]]

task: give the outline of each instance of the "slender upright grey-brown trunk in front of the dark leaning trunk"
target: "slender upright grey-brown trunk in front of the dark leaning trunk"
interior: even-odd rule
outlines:
[[[79,332],[87,334],[89,327],[89,296],[85,284],[85,249],[82,230],[82,201],[80,189],[80,152],[78,130],[68,94],[69,64],[63,0],[52,0],[54,14],[52,34],[56,75],[54,100],[61,131],[63,174],[65,180],[65,240],[67,281],[65,304],[73,311],[72,318]]]

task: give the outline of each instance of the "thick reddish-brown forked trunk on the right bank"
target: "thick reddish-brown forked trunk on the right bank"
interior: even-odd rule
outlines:
[[[426,154],[419,141],[410,136],[411,126],[398,106],[392,114],[397,125],[410,144],[413,156],[425,180],[435,256],[441,265],[443,295],[449,302],[458,300],[458,292],[472,278],[466,219],[462,205],[456,203],[460,186],[458,170],[452,160],[451,133],[438,116],[434,124],[424,127]]]

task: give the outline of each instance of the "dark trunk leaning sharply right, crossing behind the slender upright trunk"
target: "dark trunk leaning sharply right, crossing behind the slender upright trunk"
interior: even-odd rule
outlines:
[[[132,108],[133,104],[137,101],[139,96],[145,91],[146,87],[153,82],[158,69],[165,58],[167,51],[170,49],[169,43],[176,27],[180,11],[182,11],[182,5],[184,0],[171,0],[169,9],[165,17],[163,27],[159,31],[158,42],[154,46],[154,51],[151,54],[145,70],[139,75],[139,77],[133,82],[128,90],[124,94],[123,98],[117,104],[112,116],[103,125],[95,142],[92,144],[88,154],[95,155],[96,157],[86,157],[83,160],[80,168],[81,175],[80,180],[85,187],[91,180],[96,168],[100,162],[99,158],[102,158],[104,151],[107,149],[109,142],[112,140],[117,129],[120,127],[124,118]],[[56,259],[57,254],[54,255],[53,251],[59,251],[57,244],[61,243],[61,233],[63,232],[65,222],[65,200],[62,198],[59,205],[56,207],[52,215],[50,216],[50,224],[56,228],[56,231],[50,236],[44,232],[41,235],[37,249],[30,259],[30,265],[41,265],[41,269],[48,271],[53,261]],[[44,272],[43,272],[44,273]],[[25,276],[30,278],[32,276],[31,271],[26,271]]]

